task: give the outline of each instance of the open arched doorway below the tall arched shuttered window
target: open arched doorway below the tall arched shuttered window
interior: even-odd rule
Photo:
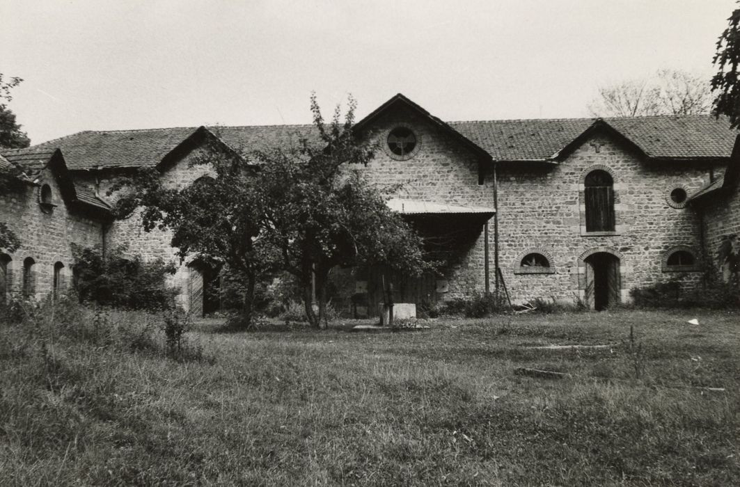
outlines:
[[[585,302],[594,310],[605,310],[619,304],[621,276],[619,257],[596,252],[583,259],[585,265]]]

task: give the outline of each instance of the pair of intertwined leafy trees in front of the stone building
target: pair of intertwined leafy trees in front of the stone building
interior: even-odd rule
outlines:
[[[311,109],[320,143],[241,153],[206,137],[208,147],[191,164],[211,168],[209,177],[166,188],[149,169],[112,188],[133,186],[117,211],[141,207],[145,230],[171,230],[182,259],[221,262],[243,278],[242,326],[251,322],[258,280],[280,270],[300,282],[309,323],[322,327],[329,271],[337,265],[383,262],[411,274],[431,268],[420,237],[356,170],[374,146],[352,132],[354,100],[344,120],[337,106],[325,123],[314,97]]]

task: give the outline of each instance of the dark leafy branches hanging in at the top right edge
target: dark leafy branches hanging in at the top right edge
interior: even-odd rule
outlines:
[[[718,68],[712,78],[712,92],[715,95],[713,109],[718,116],[727,115],[735,128],[740,125],[740,9],[734,10],[727,21],[727,29],[719,36],[713,60]]]

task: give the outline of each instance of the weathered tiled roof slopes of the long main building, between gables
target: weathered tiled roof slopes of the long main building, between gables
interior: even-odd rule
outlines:
[[[491,154],[494,160],[552,160],[587,130],[593,118],[485,120],[450,122],[449,126]],[[607,118],[648,157],[711,158],[730,156],[736,132],[711,115]],[[155,166],[196,127],[79,132],[33,149],[60,148],[67,167],[90,169]],[[311,125],[217,126],[213,133],[237,151],[295,146],[302,138],[317,140]]]

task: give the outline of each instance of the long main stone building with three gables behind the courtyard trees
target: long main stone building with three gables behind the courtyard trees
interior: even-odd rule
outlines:
[[[399,188],[388,204],[445,262],[434,275],[388,276],[400,301],[505,286],[515,302],[580,299],[600,309],[628,301],[634,287],[698,285],[707,272],[721,272],[719,245],[740,233],[736,132],[709,115],[445,123],[396,95],[354,130],[377,142],[366,176]],[[209,138],[249,151],[311,137],[312,126],[80,132],[32,149],[60,149],[78,194],[105,205],[115,200],[110,185],[136,168],[155,166],[178,187],[203,176],[208,169],[189,160]],[[100,221],[109,245],[174,258],[169,235],[144,232],[138,214]],[[354,273],[356,297],[370,309],[382,299],[385,275]],[[181,304],[201,311],[202,270],[186,261],[174,279]]]

